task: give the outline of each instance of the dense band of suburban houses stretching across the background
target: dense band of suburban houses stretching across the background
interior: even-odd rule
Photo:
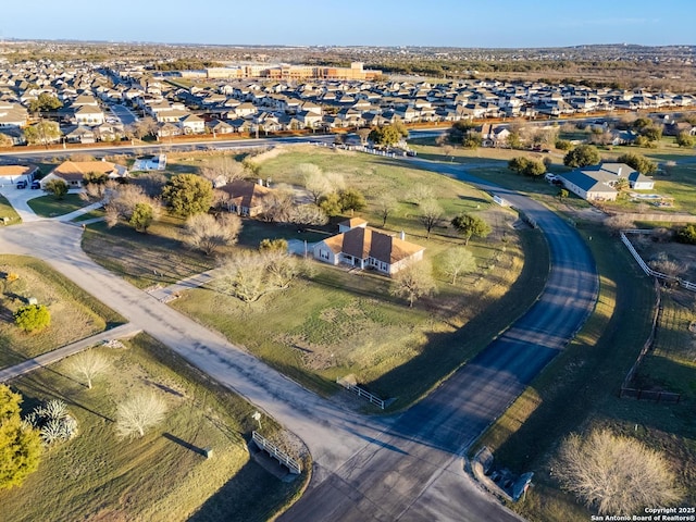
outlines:
[[[357,69],[356,69],[357,70]],[[214,75],[213,75],[214,76]],[[696,107],[693,95],[589,88],[538,82],[389,82],[303,78],[215,79],[182,87],[142,66],[25,62],[0,70],[0,133],[21,142],[27,107],[41,94],[63,109],[52,117],[65,141],[120,139],[123,125],[104,107],[130,104],[156,122],[159,137],[536,117],[612,110]],[[14,129],[14,130],[12,130]]]

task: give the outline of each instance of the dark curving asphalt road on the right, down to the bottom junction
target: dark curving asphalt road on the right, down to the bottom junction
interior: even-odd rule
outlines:
[[[455,166],[417,160],[498,194],[536,220],[551,253],[539,300],[470,363],[406,411],[377,442],[355,455],[279,520],[519,520],[475,495],[461,455],[561,350],[594,308],[598,278],[586,246],[568,223],[535,201],[469,176]],[[532,262],[533,259],[531,260]]]

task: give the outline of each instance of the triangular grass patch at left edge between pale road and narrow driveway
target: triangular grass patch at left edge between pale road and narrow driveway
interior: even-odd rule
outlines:
[[[42,261],[22,256],[0,256],[0,368],[89,337],[125,320]],[[8,281],[7,274],[16,274]],[[51,324],[40,332],[24,333],[12,314],[29,297],[46,304]]]

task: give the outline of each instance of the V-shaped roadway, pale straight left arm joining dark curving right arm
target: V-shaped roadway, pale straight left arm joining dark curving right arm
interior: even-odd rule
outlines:
[[[413,164],[481,185],[451,165]],[[82,251],[77,226],[46,221],[8,227],[0,231],[0,251],[45,259],[297,433],[315,468],[307,494],[282,520],[519,520],[472,483],[461,455],[584,323],[597,275],[586,247],[560,217],[527,198],[496,191],[546,233],[552,261],[546,290],[512,328],[396,418],[365,418],[323,400],[114,277]]]

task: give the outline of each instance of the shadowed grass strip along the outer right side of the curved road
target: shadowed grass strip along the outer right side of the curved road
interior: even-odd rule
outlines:
[[[694,405],[619,398],[621,383],[649,335],[655,304],[651,281],[616,237],[607,236],[600,227],[582,225],[585,238],[592,237],[588,245],[600,273],[597,307],[577,337],[471,452],[486,445],[493,449],[497,465],[535,473],[526,500],[511,506],[529,520],[586,521],[591,513],[555,480],[554,456],[569,434],[609,427],[663,451],[685,492],[684,505],[694,505]]]

